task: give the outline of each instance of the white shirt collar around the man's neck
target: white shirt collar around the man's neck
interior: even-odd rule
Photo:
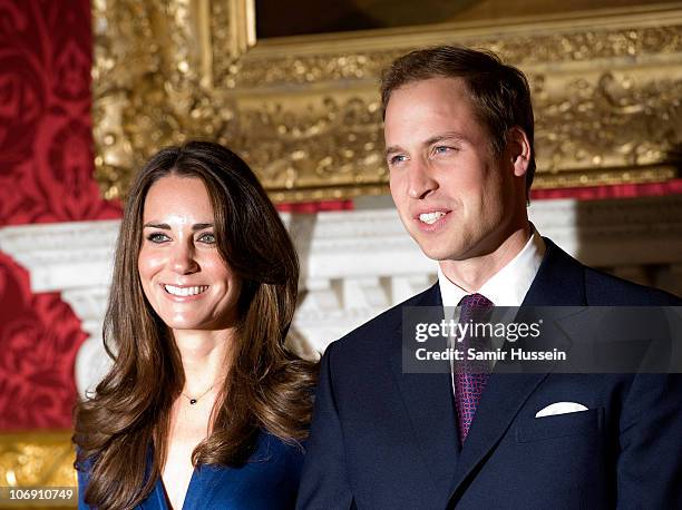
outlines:
[[[533,227],[533,234],[524,248],[483,286],[475,291],[496,306],[520,306],[545,256],[545,242]],[[454,284],[438,266],[438,284],[444,306],[457,306],[469,293]]]

